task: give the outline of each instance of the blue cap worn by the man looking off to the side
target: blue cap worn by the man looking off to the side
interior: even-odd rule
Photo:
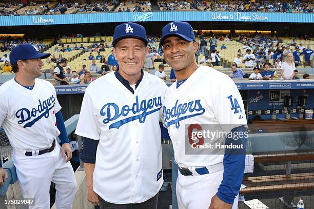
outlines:
[[[50,56],[49,53],[41,53],[37,47],[31,44],[21,44],[14,47],[10,53],[11,65],[17,63],[18,60],[45,59]]]

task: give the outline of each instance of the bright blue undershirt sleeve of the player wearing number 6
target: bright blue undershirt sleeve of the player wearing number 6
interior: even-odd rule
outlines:
[[[236,136],[235,132],[245,132],[244,126],[233,128],[232,136]],[[244,176],[245,166],[245,150],[246,150],[246,136],[239,137],[238,140],[226,138],[225,144],[243,144],[243,149],[228,149],[225,150],[224,155],[224,174],[223,180],[218,188],[217,196],[224,202],[233,204],[235,196],[239,194],[240,187]]]

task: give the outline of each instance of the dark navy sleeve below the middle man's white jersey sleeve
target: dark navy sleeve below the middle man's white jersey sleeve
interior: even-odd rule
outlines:
[[[85,163],[92,163],[96,162],[96,151],[99,140],[93,140],[86,137],[82,137],[83,141],[83,149],[80,151],[80,158]]]

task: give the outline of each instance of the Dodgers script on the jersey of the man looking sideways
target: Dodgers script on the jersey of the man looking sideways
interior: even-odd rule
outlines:
[[[26,121],[31,121],[26,123],[23,128],[32,127],[38,120],[41,118],[49,117],[49,111],[54,107],[54,97],[51,95],[47,100],[41,101],[38,100],[38,106],[36,108],[32,108],[31,110],[27,108],[22,108],[16,111],[15,116],[16,118],[21,118],[21,120],[17,121],[19,125]]]

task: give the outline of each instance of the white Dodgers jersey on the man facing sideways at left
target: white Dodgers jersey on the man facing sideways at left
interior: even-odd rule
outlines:
[[[13,148],[44,149],[60,135],[55,113],[61,110],[53,85],[35,79],[32,90],[14,79],[0,86],[0,126]]]

